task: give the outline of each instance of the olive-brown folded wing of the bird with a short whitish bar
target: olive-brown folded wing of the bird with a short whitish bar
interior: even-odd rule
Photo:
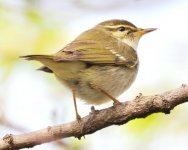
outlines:
[[[54,56],[55,61],[84,61],[91,64],[134,67],[137,54],[130,46],[118,41],[75,40]]]

